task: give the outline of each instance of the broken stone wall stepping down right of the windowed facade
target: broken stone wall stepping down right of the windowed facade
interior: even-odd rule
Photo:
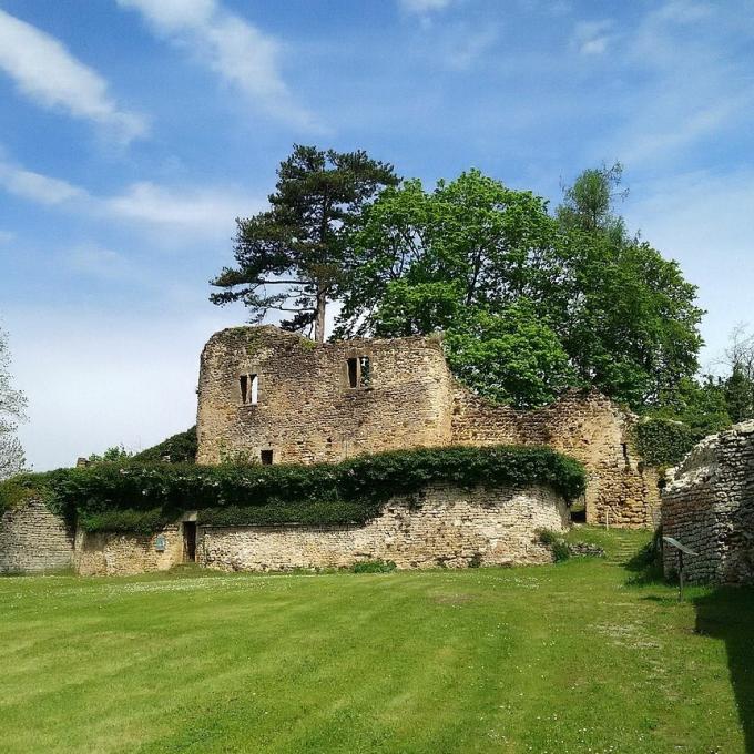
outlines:
[[[633,418],[597,391],[570,390],[531,411],[495,406],[462,386],[455,390],[452,441],[459,445],[547,445],[588,472],[587,522],[639,528],[659,517],[658,477],[633,455]]]

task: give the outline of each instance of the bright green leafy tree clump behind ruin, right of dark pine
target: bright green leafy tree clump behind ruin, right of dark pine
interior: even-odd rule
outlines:
[[[507,322],[521,305],[568,356],[568,379],[559,371],[553,384],[594,385],[634,409],[659,405],[696,371],[702,310],[675,262],[628,237],[613,207],[619,181],[617,169],[587,171],[554,216],[543,200],[478,171],[432,192],[417,181],[386,190],[351,228],[336,333],[452,335],[469,312]],[[519,405],[544,399],[513,395],[491,350],[466,353],[478,391]],[[455,368],[463,370],[459,360]]]

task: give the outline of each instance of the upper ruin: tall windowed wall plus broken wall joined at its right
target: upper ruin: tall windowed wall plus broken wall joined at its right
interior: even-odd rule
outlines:
[[[536,411],[492,405],[454,379],[436,337],[315,345],[276,327],[236,327],[202,353],[197,460],[310,463],[420,446],[549,445],[584,463],[589,522],[643,527],[654,523],[659,492],[632,455],[633,421],[597,393],[571,391]]]

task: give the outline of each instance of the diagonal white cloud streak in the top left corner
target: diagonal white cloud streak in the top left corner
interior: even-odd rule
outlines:
[[[0,70],[38,104],[109,126],[126,143],[146,132],[144,118],[120,109],[96,71],[77,60],[54,37],[2,9]]]

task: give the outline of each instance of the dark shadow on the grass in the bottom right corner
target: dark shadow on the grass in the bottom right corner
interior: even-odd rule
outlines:
[[[693,602],[696,633],[725,642],[745,751],[754,754],[754,588],[721,588]]]

